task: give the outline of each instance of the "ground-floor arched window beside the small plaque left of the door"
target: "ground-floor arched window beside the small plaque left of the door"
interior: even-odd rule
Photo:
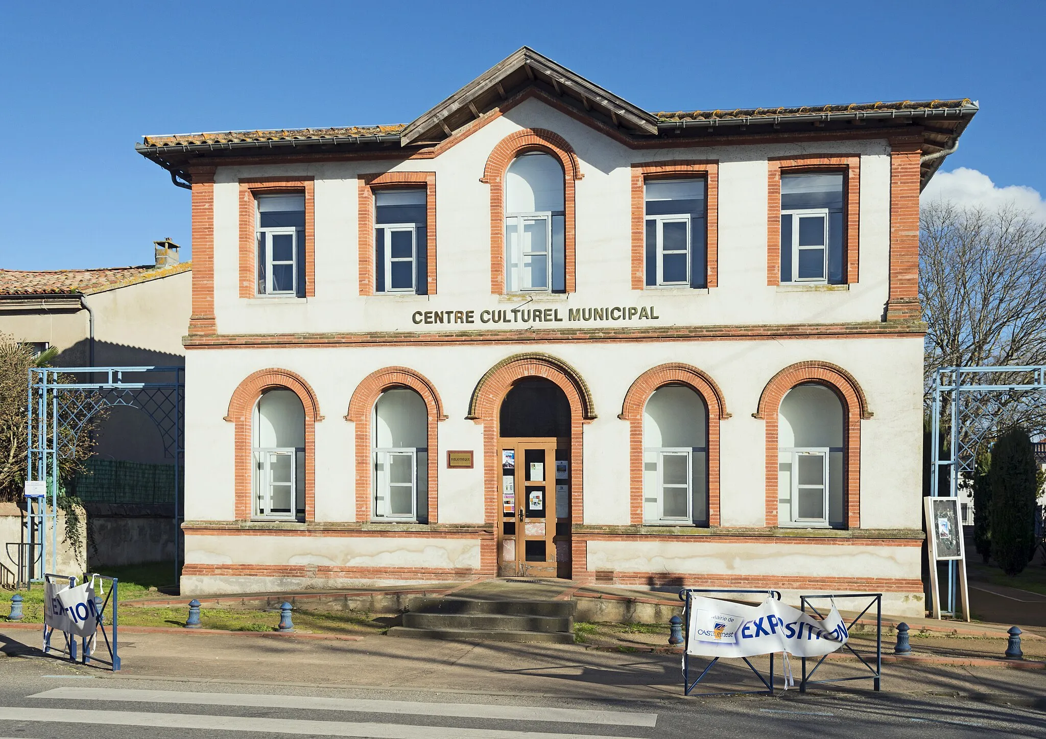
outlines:
[[[428,425],[425,400],[413,390],[386,390],[374,403],[374,518],[428,517]]]

